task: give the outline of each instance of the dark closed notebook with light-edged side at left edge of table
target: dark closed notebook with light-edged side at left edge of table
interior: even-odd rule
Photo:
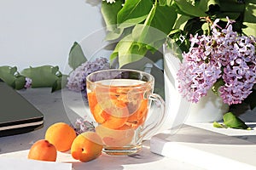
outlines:
[[[43,124],[43,114],[0,79],[0,137],[30,132]]]

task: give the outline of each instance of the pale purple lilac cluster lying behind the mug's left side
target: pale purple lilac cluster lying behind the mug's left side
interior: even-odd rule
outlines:
[[[67,88],[76,92],[86,92],[85,78],[94,71],[101,71],[109,68],[110,65],[108,59],[103,57],[96,58],[93,61],[86,61],[67,77]]]

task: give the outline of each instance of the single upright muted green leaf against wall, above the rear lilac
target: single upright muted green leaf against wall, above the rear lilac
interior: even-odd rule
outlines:
[[[74,42],[69,52],[68,65],[75,70],[79,65],[86,62],[86,60],[81,46],[78,42]]]

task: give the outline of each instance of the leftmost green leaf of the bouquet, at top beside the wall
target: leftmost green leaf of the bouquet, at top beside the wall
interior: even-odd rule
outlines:
[[[117,14],[119,10],[122,8],[122,0],[116,0],[115,3],[107,3],[106,1],[102,1],[102,16],[107,26],[107,31],[114,31],[117,26]]]

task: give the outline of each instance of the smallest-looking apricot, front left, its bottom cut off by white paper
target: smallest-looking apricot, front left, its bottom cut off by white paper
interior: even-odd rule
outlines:
[[[48,140],[40,139],[32,145],[27,158],[39,161],[56,161],[57,150],[55,145],[50,144]]]

